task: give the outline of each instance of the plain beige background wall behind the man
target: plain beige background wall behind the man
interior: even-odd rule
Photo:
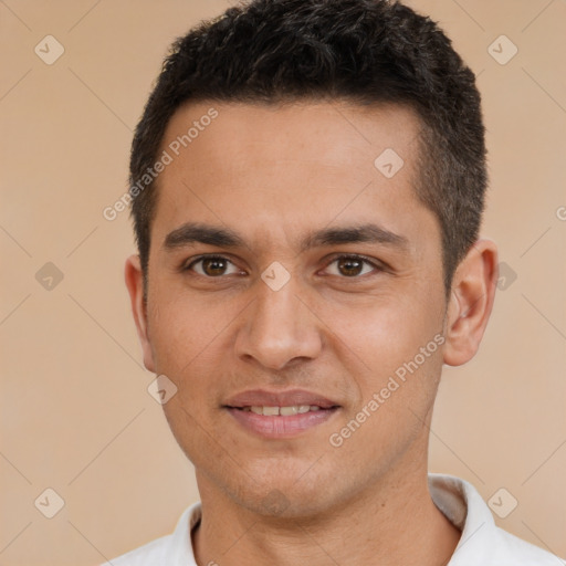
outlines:
[[[410,4],[479,74],[484,234],[516,274],[505,271],[480,354],[447,368],[430,468],[486,500],[505,488],[518,505],[497,523],[566,556],[566,2]],[[123,283],[127,212],[102,211],[127,188],[132,129],[168,44],[226,7],[0,1],[2,565],[101,563],[170,532],[198,497],[146,390]],[[53,65],[34,53],[48,34],[65,49]],[[488,52],[501,34],[518,48],[505,65]],[[52,290],[35,279],[46,262],[64,275]],[[51,520],[34,506],[46,488],[65,502]]]

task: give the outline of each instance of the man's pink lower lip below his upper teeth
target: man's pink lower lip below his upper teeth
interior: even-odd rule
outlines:
[[[228,412],[244,428],[264,438],[290,438],[326,422],[337,410],[321,409],[298,415],[264,416],[227,407]]]

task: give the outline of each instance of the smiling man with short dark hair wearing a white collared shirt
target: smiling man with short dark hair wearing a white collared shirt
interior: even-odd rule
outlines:
[[[130,181],[126,284],[201,502],[112,564],[559,564],[427,473],[442,365],[476,353],[497,271],[480,95],[432,21],[227,10],[174,45]]]

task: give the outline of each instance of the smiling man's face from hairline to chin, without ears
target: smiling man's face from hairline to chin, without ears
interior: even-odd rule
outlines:
[[[338,102],[170,120],[138,329],[201,490],[300,516],[426,465],[447,303],[417,132]]]

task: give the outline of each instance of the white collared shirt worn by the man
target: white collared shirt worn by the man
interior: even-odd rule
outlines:
[[[432,501],[462,532],[447,566],[565,566],[566,562],[499,528],[490,509],[470,483],[429,474]],[[200,522],[200,502],[182,513],[175,532],[103,566],[197,566],[190,533]]]

